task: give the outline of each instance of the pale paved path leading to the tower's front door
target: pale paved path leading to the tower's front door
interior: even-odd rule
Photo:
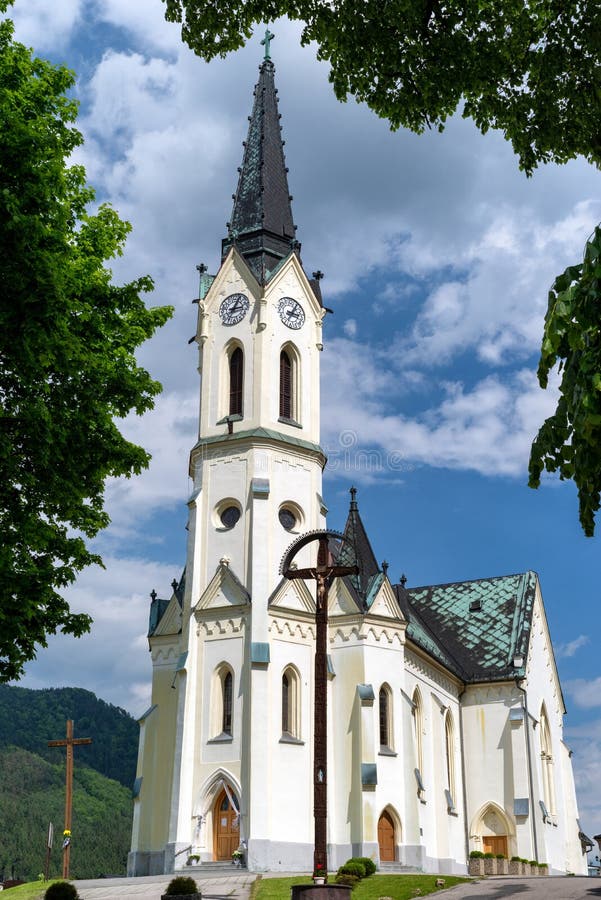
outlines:
[[[213,873],[194,879],[203,900],[248,900],[250,886],[257,876],[251,872]],[[173,875],[150,875],[141,878],[97,878],[76,881],[77,892],[83,900],[161,900],[161,894]]]

